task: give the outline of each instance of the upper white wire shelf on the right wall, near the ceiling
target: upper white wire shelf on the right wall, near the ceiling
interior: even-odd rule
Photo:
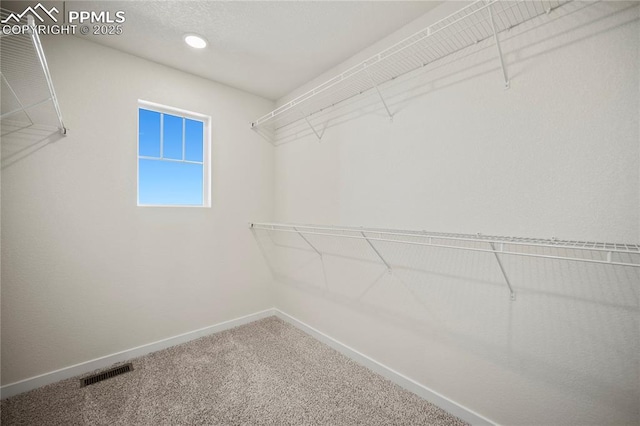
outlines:
[[[498,33],[568,1],[477,0],[258,118],[251,126],[275,132],[483,40],[495,37],[498,44]],[[502,63],[501,53],[500,60]],[[508,87],[506,72],[504,75]]]

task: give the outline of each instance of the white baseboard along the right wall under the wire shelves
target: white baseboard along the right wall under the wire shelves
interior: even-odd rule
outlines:
[[[332,347],[333,349],[337,350],[338,352],[347,356],[348,358],[351,358],[358,364],[363,365],[368,369],[380,374],[382,377],[385,377],[391,380],[393,383],[399,385],[400,387],[410,392],[413,392],[414,394],[418,395],[423,399],[426,399],[427,401],[437,405],[438,407],[453,414],[454,416],[457,416],[472,425],[495,425],[496,424],[495,422],[492,422],[486,417],[483,417],[480,414],[475,413],[474,411],[450,400],[446,396],[441,395],[432,389],[429,389],[428,387],[416,382],[413,379],[410,379],[409,377],[401,373],[398,373],[392,368],[389,368],[386,365],[381,364],[378,361],[374,360],[373,358],[368,357],[367,355],[361,352],[358,352],[357,350],[345,345],[342,342],[339,342],[333,337],[330,337],[324,334],[323,332],[311,327],[310,325],[305,324],[304,322],[292,317],[291,315],[286,314],[277,308],[274,308],[273,312],[278,318],[282,319],[283,321],[286,321],[287,323],[293,325],[294,327],[313,336],[314,338],[321,341],[322,343]]]

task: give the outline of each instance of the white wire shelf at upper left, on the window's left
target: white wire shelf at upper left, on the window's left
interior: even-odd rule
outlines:
[[[0,9],[4,21],[11,11]],[[34,27],[33,17],[24,16],[16,26]],[[37,32],[2,34],[0,38],[0,80],[2,105],[0,120],[4,127],[24,129],[31,126],[57,127],[64,135],[51,73]],[[3,130],[4,133],[4,130]]]

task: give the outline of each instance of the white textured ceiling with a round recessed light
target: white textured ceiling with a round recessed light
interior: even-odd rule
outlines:
[[[68,1],[66,8],[123,10],[123,34],[81,37],[275,100],[438,3]],[[189,32],[209,46],[186,46]]]

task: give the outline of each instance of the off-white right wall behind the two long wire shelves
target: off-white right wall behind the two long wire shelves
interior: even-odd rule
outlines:
[[[393,123],[369,93],[314,116],[321,142],[281,132],[276,220],[638,243],[635,5],[503,35],[509,90],[482,43],[384,88]],[[640,421],[638,268],[505,257],[510,302],[491,255],[380,244],[388,275],[364,243],[260,241],[278,308],[489,419]]]

